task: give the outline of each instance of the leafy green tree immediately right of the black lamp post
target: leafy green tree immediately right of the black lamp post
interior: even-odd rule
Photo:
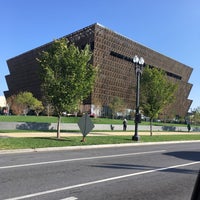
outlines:
[[[141,78],[141,107],[145,116],[150,118],[150,135],[152,121],[175,98],[177,84],[170,82],[164,71],[146,67]]]

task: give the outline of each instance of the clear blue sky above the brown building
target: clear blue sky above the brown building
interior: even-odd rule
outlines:
[[[0,0],[0,96],[6,60],[100,23],[193,68],[189,98],[200,106],[199,0]]]

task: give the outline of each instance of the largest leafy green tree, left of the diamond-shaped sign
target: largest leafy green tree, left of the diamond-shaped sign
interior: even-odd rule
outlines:
[[[91,64],[89,45],[80,50],[63,38],[55,40],[38,58],[44,97],[58,116],[57,138],[60,138],[62,113],[77,108],[91,93],[97,68]]]

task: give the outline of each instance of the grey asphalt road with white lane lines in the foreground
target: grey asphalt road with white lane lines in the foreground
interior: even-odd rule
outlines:
[[[200,142],[0,154],[0,200],[188,200]]]

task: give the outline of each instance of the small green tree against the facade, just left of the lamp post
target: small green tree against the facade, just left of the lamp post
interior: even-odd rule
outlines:
[[[124,101],[119,97],[113,97],[112,101],[109,104],[110,109],[112,110],[112,118],[117,116],[117,112],[123,112],[125,109]]]

